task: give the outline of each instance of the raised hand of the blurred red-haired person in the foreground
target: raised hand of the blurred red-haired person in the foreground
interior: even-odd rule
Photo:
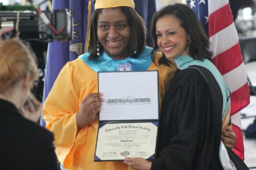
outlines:
[[[39,103],[34,97],[30,97],[19,111],[24,118],[37,123],[41,116],[42,109],[43,104]]]

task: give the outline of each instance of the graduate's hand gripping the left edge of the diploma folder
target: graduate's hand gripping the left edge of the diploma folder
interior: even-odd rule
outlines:
[[[100,111],[101,102],[104,101],[100,98],[102,95],[102,93],[91,93],[81,101],[80,111],[76,114],[78,132],[95,120],[96,114]]]

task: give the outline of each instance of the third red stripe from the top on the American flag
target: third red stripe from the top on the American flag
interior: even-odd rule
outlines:
[[[231,106],[230,114],[238,113],[250,103],[250,91],[248,83],[245,83],[241,88],[230,94]]]

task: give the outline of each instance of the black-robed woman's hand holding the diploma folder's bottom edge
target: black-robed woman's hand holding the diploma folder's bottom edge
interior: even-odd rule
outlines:
[[[139,157],[126,157],[123,163],[128,164],[128,166],[130,166],[131,169],[135,170],[150,170],[152,164],[151,162],[146,161],[146,159]]]

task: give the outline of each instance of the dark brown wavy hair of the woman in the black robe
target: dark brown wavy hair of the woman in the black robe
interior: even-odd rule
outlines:
[[[154,53],[157,51],[156,22],[163,16],[174,16],[180,21],[180,26],[187,31],[190,36],[190,44],[188,53],[193,59],[210,59],[213,53],[210,51],[210,41],[208,40],[202,25],[198,21],[198,17],[192,9],[185,4],[176,3],[168,5],[157,11],[151,21],[151,36],[153,39],[153,51],[151,58],[155,61]],[[160,59],[159,64],[168,64],[165,54]]]

